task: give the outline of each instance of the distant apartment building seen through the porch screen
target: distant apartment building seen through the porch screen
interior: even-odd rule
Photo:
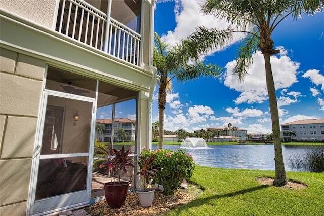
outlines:
[[[118,138],[118,128],[124,129],[126,133],[125,141],[135,141],[135,124],[136,121],[128,118],[114,119],[114,127],[112,128],[112,119],[97,119],[96,124],[104,124],[105,131],[99,134],[96,131],[96,139],[101,142],[109,142],[113,129],[113,141],[122,141]]]

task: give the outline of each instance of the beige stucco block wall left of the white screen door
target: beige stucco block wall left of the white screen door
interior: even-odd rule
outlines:
[[[0,212],[25,215],[45,62],[0,49]]]

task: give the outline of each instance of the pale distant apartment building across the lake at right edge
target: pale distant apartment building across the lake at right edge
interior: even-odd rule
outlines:
[[[290,131],[294,132],[293,134]],[[304,119],[281,124],[282,141],[323,141],[324,118]]]

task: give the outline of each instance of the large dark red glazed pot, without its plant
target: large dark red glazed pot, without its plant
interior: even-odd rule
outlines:
[[[129,182],[107,182],[104,184],[106,202],[110,208],[119,208],[125,202]]]

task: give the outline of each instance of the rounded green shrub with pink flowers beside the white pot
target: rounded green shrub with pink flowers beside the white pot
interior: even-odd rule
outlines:
[[[142,157],[148,158],[153,151],[143,150]],[[152,184],[163,186],[166,195],[173,195],[180,187],[183,179],[189,179],[195,167],[193,158],[186,153],[186,150],[156,150],[154,151],[154,164],[162,166],[157,172],[157,178],[153,179]]]

